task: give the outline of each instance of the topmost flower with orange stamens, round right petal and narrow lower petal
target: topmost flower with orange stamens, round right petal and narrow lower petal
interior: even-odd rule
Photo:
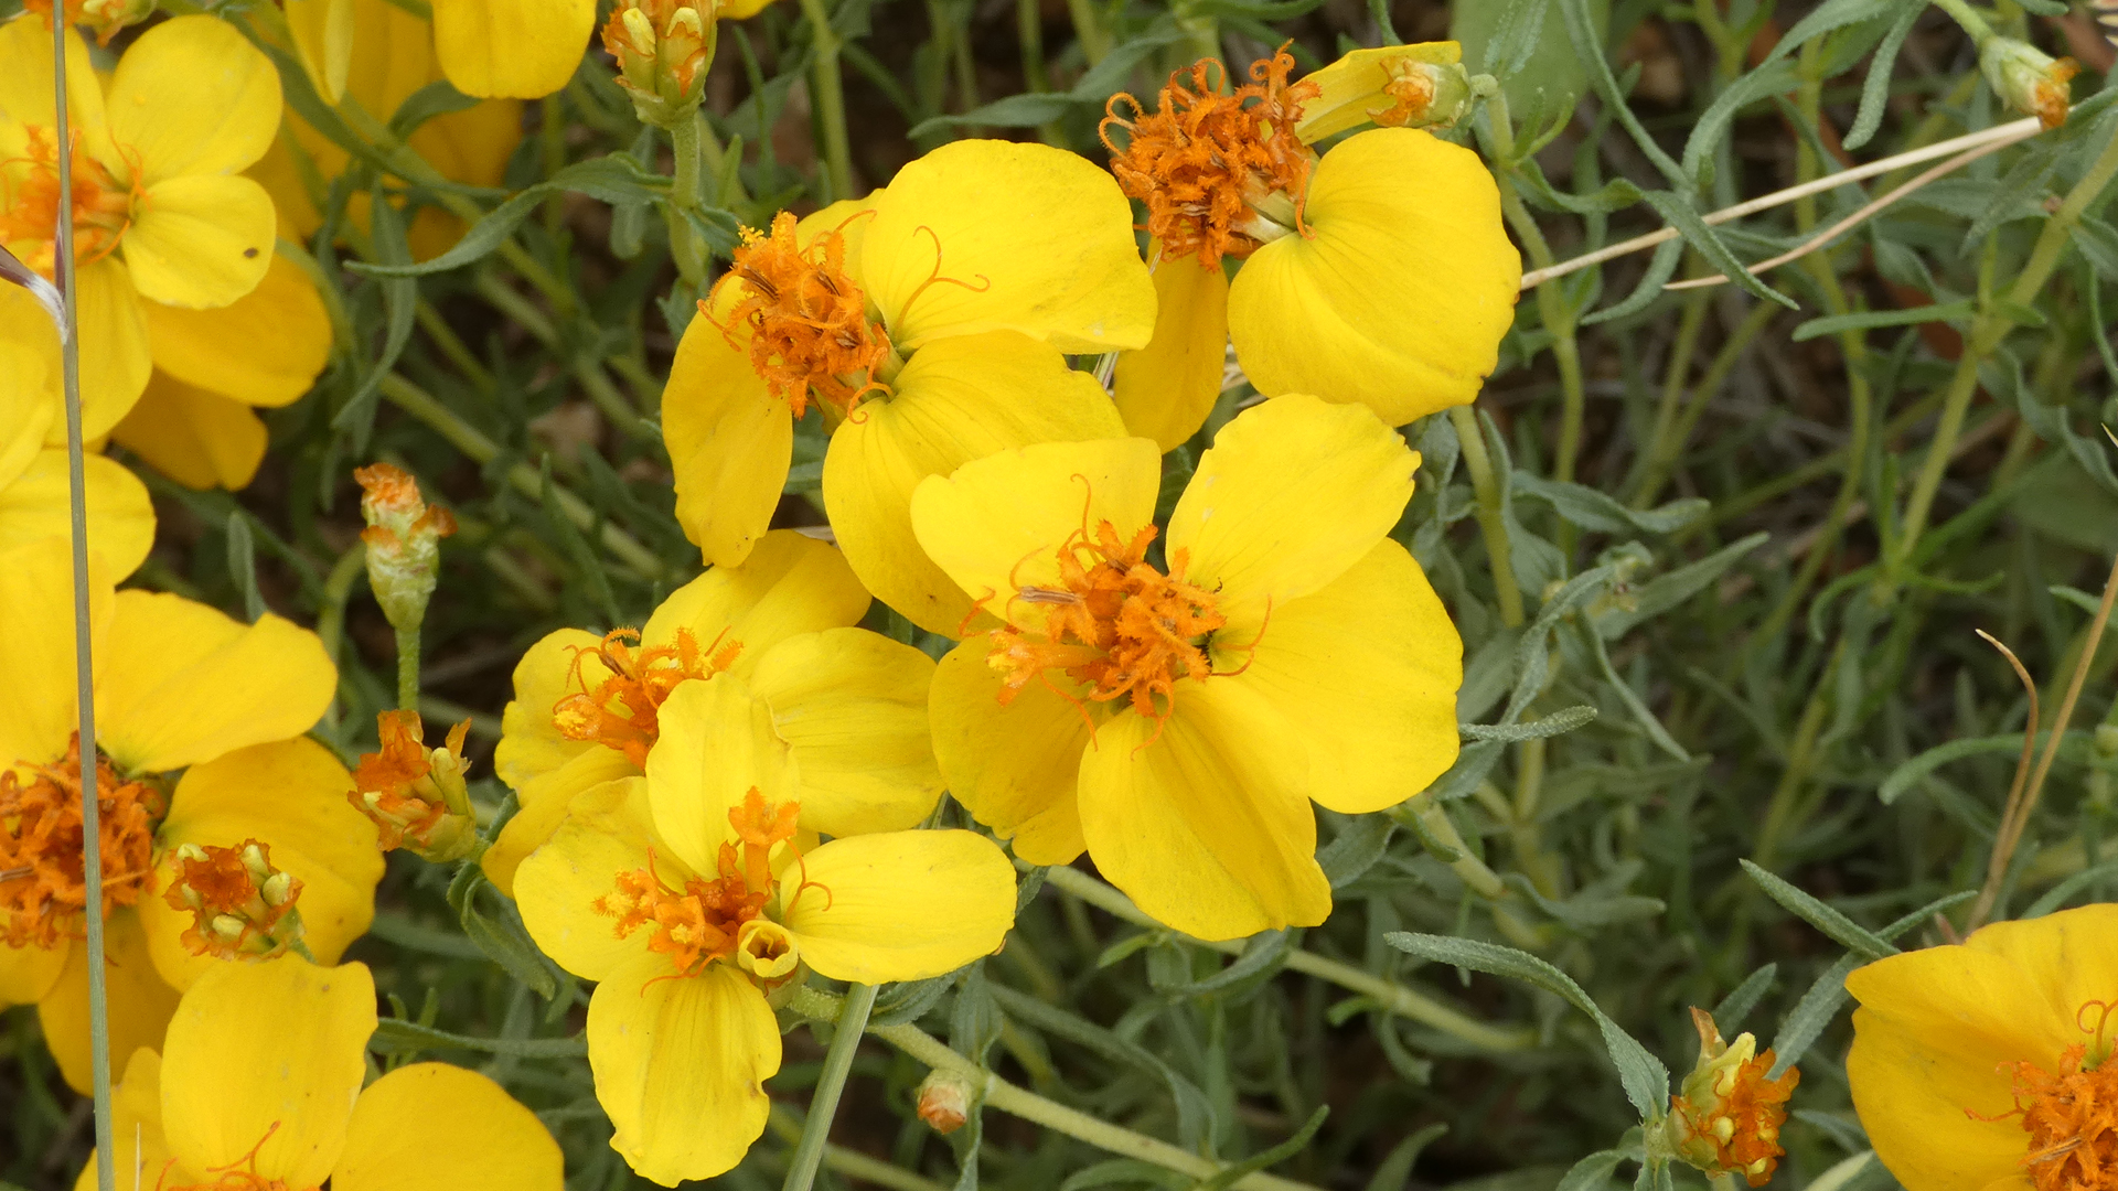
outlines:
[[[1330,100],[1315,76],[1288,83],[1292,68],[1279,53],[1220,93],[1205,59],[1169,78],[1152,114],[1120,117],[1120,95],[1103,121],[1112,172],[1148,208],[1161,295],[1154,341],[1118,358],[1118,407],[1163,449],[1205,422],[1231,339],[1258,392],[1362,403],[1402,426],[1470,403],[1514,320],[1523,261],[1478,155],[1377,127],[1320,159],[1303,112],[1349,100],[1326,72]],[[1406,95],[1406,119],[1415,102],[1430,100]],[[1123,150],[1112,129],[1129,134]],[[1243,259],[1233,284],[1226,256]]]

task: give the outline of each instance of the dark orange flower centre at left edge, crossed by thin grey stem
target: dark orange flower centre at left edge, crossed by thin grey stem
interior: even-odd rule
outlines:
[[[23,780],[19,769],[28,769]],[[119,778],[95,759],[104,913],[133,905],[152,871],[159,788]],[[80,737],[55,765],[0,771],[0,937],[11,947],[53,947],[76,937],[89,905],[80,829]]]

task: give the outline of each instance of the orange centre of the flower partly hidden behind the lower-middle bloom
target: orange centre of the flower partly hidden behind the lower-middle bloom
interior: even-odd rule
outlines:
[[[699,638],[690,629],[678,629],[671,644],[640,648],[627,644],[640,640],[640,629],[610,629],[595,648],[574,653],[572,680],[580,685],[580,693],[553,704],[553,725],[566,740],[593,740],[616,748],[644,769],[648,748],[654,748],[661,735],[657,714],[678,682],[712,678],[735,665],[743,642],[726,638],[729,632],[722,629],[714,644],[699,648]],[[610,678],[597,682],[593,691],[580,674],[580,661],[591,655],[610,668]]]

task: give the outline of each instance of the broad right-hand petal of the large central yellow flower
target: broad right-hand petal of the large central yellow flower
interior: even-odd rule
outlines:
[[[1383,538],[1315,596],[1273,608],[1252,655],[1216,640],[1216,670],[1243,670],[1309,746],[1309,797],[1341,814],[1402,803],[1457,754],[1464,638],[1428,576]],[[1214,678],[1222,682],[1222,678]]]

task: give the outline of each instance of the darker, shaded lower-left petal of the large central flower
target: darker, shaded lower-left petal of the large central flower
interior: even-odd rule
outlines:
[[[974,636],[934,670],[928,706],[943,780],[1023,860],[1072,865],[1087,848],[1074,788],[1089,750],[1089,716],[1103,723],[1110,704],[1082,701],[1084,714],[1034,682],[1002,708],[1000,674],[985,663],[989,644]]]

